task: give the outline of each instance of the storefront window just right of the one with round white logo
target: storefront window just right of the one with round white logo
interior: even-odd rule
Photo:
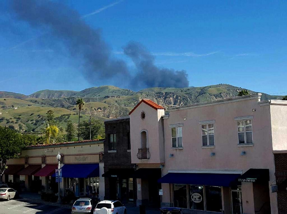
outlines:
[[[206,210],[221,212],[221,188],[214,186],[205,186]]]

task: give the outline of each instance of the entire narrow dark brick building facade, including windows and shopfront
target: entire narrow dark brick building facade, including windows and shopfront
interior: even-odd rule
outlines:
[[[130,155],[130,118],[105,120],[105,199],[135,203],[137,199],[134,164]]]

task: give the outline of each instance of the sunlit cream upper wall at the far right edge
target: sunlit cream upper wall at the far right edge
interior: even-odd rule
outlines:
[[[270,104],[273,150],[287,150],[287,101],[272,100]]]

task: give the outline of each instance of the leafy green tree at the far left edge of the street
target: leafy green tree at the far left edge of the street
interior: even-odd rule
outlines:
[[[18,154],[26,146],[21,134],[7,127],[0,127],[0,183],[5,169],[7,169],[7,160],[17,158]]]

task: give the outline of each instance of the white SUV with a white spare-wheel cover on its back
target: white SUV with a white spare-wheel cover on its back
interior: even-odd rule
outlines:
[[[94,214],[127,214],[127,208],[120,201],[100,201],[94,209]]]

